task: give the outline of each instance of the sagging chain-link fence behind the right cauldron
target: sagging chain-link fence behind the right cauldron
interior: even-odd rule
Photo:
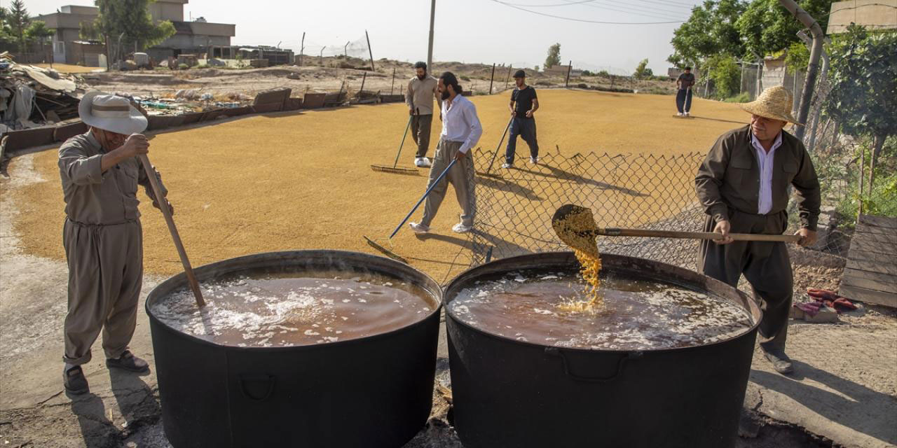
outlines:
[[[694,192],[694,177],[704,155],[558,153],[538,165],[502,169],[499,154],[475,153],[477,215],[472,236],[472,263],[518,254],[568,250],[554,234],[554,211],[565,203],[588,207],[598,227],[701,231],[705,214]],[[523,160],[521,160],[523,161]],[[488,174],[487,174],[488,172]],[[823,179],[823,183],[826,182]],[[792,209],[795,209],[792,204]],[[789,232],[797,228],[791,210]],[[820,222],[814,250],[846,256],[844,241],[830,237],[828,220]],[[840,234],[838,234],[840,235]],[[693,239],[598,237],[602,253],[625,254],[696,268],[699,242]]]

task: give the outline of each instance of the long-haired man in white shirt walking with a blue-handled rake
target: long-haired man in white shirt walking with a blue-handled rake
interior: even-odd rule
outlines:
[[[440,210],[440,203],[445,198],[448,184],[455,187],[457,202],[461,205],[461,221],[452,230],[457,233],[466,233],[474,228],[474,214],[476,212],[476,197],[474,183],[474,161],[468,152],[483,135],[483,126],[476,116],[474,103],[461,96],[461,85],[454,74],[442,73],[439,79],[439,90],[442,98],[442,134],[440,142],[436,146],[436,155],[430,168],[430,181],[427,188],[440,177],[442,171],[448,168],[451,161],[457,163],[448,170],[439,185],[435,185],[427,201],[423,204],[423,218],[421,222],[411,222],[408,225],[414,233],[425,234],[430,231],[430,223]]]

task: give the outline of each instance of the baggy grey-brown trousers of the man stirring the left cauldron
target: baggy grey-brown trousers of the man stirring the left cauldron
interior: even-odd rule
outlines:
[[[63,361],[91,360],[91,345],[103,333],[106,358],[118,358],[134,335],[137,302],[144,280],[140,221],[91,226],[65,220],[68,261],[68,314]]]

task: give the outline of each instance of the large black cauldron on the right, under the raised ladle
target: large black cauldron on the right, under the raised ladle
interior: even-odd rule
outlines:
[[[672,283],[744,307],[753,327],[686,349],[559,349],[492,335],[447,313],[454,423],[467,448],[735,445],[760,309],[744,293],[699,273],[602,255],[602,275]],[[445,303],[476,280],[521,269],[575,269],[571,253],[531,254],[466,271]]]

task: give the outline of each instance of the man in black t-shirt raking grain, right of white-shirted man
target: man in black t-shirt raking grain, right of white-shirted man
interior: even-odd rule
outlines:
[[[517,87],[510,94],[510,136],[508,149],[505,151],[505,163],[501,168],[514,166],[514,152],[517,151],[517,136],[523,137],[529,146],[529,163],[539,163],[539,143],[536,142],[536,118],[533,114],[539,108],[539,99],[536,98],[536,89],[527,85],[527,73],[518,70],[514,73],[514,82]]]

